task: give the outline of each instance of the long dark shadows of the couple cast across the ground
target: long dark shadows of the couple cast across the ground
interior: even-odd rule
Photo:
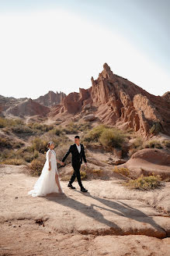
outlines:
[[[82,192],[78,190],[73,190],[73,192],[82,194]],[[109,226],[110,229],[115,229],[116,233],[119,233],[120,235],[123,234],[123,229],[121,229],[120,226],[117,226],[116,223],[106,219],[101,212],[97,211],[96,208],[112,212],[115,215],[120,215],[121,217],[125,217],[127,219],[134,219],[137,222],[145,222],[153,226],[154,229],[162,230],[162,227],[154,222],[154,219],[152,219],[152,217],[146,215],[144,212],[141,212],[137,208],[131,207],[129,204],[126,204],[123,201],[111,201],[105,198],[92,196],[90,193],[85,193],[83,195],[92,199],[92,203],[90,205],[83,204],[81,201],[77,201],[67,196],[46,197],[46,199],[49,201],[55,201],[57,204],[62,204],[78,212],[82,212],[82,214],[87,215],[92,219],[95,219],[95,221],[101,222],[102,224]],[[98,201],[100,204],[95,204],[94,200]],[[122,221],[124,221],[124,219]]]

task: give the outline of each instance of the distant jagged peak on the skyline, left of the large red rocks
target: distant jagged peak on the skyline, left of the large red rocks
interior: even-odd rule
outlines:
[[[64,92],[54,93],[54,91],[49,91],[47,94],[36,98],[34,101],[41,105],[51,107],[53,105],[60,104],[65,96],[66,94],[64,94]]]

